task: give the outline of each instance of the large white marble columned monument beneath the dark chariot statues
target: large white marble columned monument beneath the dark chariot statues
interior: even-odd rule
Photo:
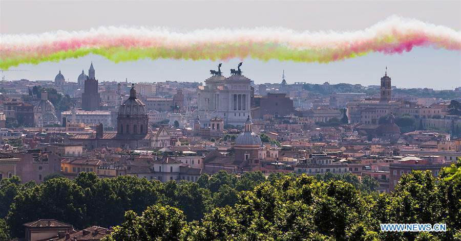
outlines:
[[[198,115],[203,127],[209,120],[220,117],[227,125],[243,125],[251,114],[251,80],[243,75],[231,77],[213,76],[205,80],[205,86],[198,87]]]

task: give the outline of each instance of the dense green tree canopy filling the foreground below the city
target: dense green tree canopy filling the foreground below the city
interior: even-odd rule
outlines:
[[[115,226],[106,241],[455,240],[461,237],[459,168],[461,161],[439,177],[413,171],[391,194],[378,194],[374,178],[331,173],[221,171],[166,183],[80,173],[39,185],[13,177],[0,181],[0,210],[9,210],[0,216],[0,237],[9,230],[23,237],[22,224],[48,218],[78,229]],[[381,232],[381,223],[445,223],[447,232]]]

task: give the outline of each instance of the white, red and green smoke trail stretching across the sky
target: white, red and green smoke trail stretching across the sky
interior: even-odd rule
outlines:
[[[90,31],[0,35],[0,68],[60,61],[90,53],[114,62],[144,58],[227,60],[252,57],[300,62],[344,60],[372,52],[396,54],[415,46],[461,50],[461,32],[390,17],[354,32],[297,32],[280,28],[196,30],[99,27]]]

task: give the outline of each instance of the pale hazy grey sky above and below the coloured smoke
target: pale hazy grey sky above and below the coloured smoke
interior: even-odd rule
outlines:
[[[283,27],[298,31],[363,30],[391,15],[415,18],[461,30],[461,1],[308,1],[308,2],[147,2],[147,1],[0,1],[0,34],[87,30],[98,26],[168,27],[179,31],[214,28]],[[1,39],[0,39],[1,41]],[[89,55],[61,62],[23,64],[5,71],[7,80],[54,80],[61,73],[76,81],[90,62],[96,78],[134,82],[203,81],[221,61],[141,60],[115,64]],[[240,59],[222,61],[225,74]],[[402,55],[369,54],[328,64],[262,62],[244,59],[244,75],[256,83],[379,84],[385,66],[397,87],[447,89],[461,86],[461,53],[415,48]],[[227,74],[228,75],[228,74]]]

